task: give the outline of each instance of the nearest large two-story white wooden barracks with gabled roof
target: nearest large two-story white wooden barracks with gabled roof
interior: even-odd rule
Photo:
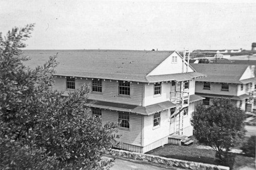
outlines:
[[[25,51],[26,65],[43,64],[57,52],[54,89],[90,85],[87,103],[102,123],[118,122],[124,150],[146,153],[168,143],[171,134],[192,136],[190,124],[198,73],[176,51]]]

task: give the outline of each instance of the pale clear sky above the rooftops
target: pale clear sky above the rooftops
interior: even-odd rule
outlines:
[[[250,50],[255,0],[0,0],[0,32],[36,23],[31,50]]]

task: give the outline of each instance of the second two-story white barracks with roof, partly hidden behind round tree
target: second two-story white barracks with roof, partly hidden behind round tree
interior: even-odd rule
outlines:
[[[196,80],[196,93],[205,97],[204,104],[213,98],[231,99],[242,110],[253,112],[255,97],[255,66],[230,64],[191,64],[206,77]]]

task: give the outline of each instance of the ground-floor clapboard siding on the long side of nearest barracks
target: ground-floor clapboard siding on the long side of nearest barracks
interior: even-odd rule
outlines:
[[[122,129],[119,128],[118,134],[121,137],[118,139],[121,143],[141,146],[141,115],[130,114],[130,128]],[[117,122],[118,112],[102,110],[102,123],[106,122]]]

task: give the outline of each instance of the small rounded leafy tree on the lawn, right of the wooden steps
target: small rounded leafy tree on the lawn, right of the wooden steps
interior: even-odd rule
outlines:
[[[234,147],[244,137],[244,111],[228,99],[214,99],[213,104],[196,106],[191,123],[198,142],[212,147],[219,161],[225,162],[230,147]]]

